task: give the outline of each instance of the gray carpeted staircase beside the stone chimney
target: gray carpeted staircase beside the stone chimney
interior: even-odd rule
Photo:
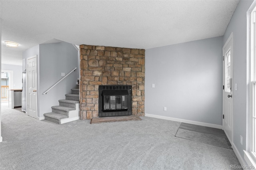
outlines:
[[[63,124],[79,119],[79,89],[71,89],[59,106],[52,106],[52,112],[44,113],[44,120]]]

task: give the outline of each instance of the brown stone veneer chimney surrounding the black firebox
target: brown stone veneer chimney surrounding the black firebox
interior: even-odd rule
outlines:
[[[145,49],[80,45],[80,59],[81,120],[98,117],[99,85],[132,85],[132,115],[145,115]]]

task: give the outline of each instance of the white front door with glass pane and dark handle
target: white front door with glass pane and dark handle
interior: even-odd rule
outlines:
[[[223,53],[223,104],[222,128],[233,143],[233,33],[222,48]]]

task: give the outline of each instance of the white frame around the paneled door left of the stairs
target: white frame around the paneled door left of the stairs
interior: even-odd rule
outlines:
[[[27,112],[26,112],[26,115],[28,115],[28,111],[29,111],[29,101],[28,101],[28,96],[29,96],[29,91],[28,91],[28,60],[29,59],[32,59],[32,58],[35,58],[36,57],[36,89],[37,89],[37,87],[38,87],[38,62],[37,62],[37,55],[34,55],[34,56],[32,56],[32,57],[28,57],[27,59],[26,59],[26,110],[27,110]],[[35,105],[36,105],[36,119],[38,119],[38,94],[37,94],[38,92],[36,92],[36,103],[35,103]]]

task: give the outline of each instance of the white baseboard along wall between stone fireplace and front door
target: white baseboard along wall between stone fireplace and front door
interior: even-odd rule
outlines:
[[[196,121],[189,121],[185,119],[177,119],[173,117],[166,117],[166,116],[159,116],[159,115],[151,115],[151,114],[145,114],[146,117],[154,117],[158,119],[165,119],[168,121],[176,121],[176,122],[182,122],[182,123],[189,123],[192,125],[200,125],[204,127],[212,127],[212,128],[220,128],[222,129],[222,125],[215,125],[215,124],[210,124],[210,123],[203,123],[203,122],[196,122]]]

